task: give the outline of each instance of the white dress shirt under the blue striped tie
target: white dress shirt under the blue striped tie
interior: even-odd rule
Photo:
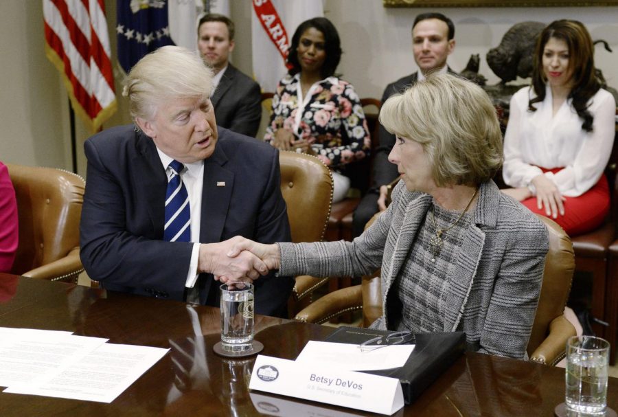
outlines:
[[[165,174],[168,176],[168,182],[172,177],[172,169],[168,168],[170,162],[174,158],[165,155],[157,148],[161,164],[165,168]],[[187,272],[187,280],[185,286],[187,288],[193,288],[198,278],[197,266],[200,252],[200,220],[202,210],[202,186],[204,181],[204,161],[194,162],[193,164],[183,164],[185,169],[179,172],[185,188],[187,188],[187,194],[189,194],[189,206],[191,207],[191,242],[194,243],[193,251],[191,252],[191,261],[189,264],[189,271]]]

